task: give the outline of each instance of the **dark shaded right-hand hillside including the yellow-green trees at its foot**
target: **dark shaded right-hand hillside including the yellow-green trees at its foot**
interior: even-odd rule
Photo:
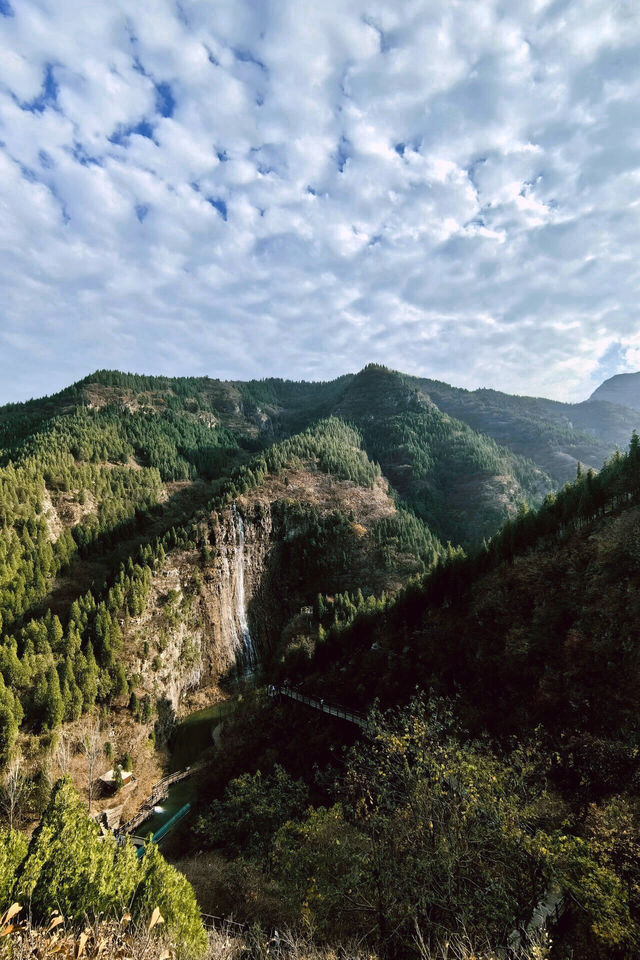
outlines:
[[[210,873],[186,868],[210,909],[311,916],[389,957],[425,955],[416,926],[511,956],[538,917],[540,957],[635,960],[639,545],[634,435],[399,596],[318,597],[306,650],[273,671],[279,697],[204,792],[192,842]],[[336,703],[364,728],[341,730]]]

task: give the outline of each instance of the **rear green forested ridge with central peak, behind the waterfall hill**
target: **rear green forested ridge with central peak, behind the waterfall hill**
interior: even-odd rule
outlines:
[[[358,427],[396,492],[444,540],[489,536],[520,500],[539,502],[552,487],[543,470],[376,366],[318,384],[102,371],[56,397],[1,410],[0,456],[8,462],[61,442],[79,459],[157,467],[164,481],[212,479],[328,416]],[[88,432],[97,447],[83,451]]]

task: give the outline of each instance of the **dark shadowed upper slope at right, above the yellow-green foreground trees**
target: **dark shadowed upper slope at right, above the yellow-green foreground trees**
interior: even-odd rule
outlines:
[[[353,611],[318,645],[311,686],[362,709],[410,697],[419,678],[496,734],[543,724],[634,743],[639,500],[635,438],[487,547],[445,558],[382,611]]]

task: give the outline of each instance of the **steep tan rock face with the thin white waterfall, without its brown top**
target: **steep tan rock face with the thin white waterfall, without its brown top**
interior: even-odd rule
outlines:
[[[164,696],[176,710],[189,690],[253,669],[278,619],[271,573],[278,537],[270,505],[213,515],[208,539],[205,554],[167,557],[144,614],[127,630],[138,694]]]

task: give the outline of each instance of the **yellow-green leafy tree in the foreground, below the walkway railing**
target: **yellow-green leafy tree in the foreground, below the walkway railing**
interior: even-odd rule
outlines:
[[[382,952],[394,954],[416,919],[425,931],[458,928],[493,942],[515,918],[528,919],[545,881],[538,850],[523,839],[544,787],[535,765],[517,760],[461,743],[442,704],[414,701],[372,718],[344,779],[359,875],[345,875],[342,909],[369,914]],[[317,880],[313,867],[307,883]]]

